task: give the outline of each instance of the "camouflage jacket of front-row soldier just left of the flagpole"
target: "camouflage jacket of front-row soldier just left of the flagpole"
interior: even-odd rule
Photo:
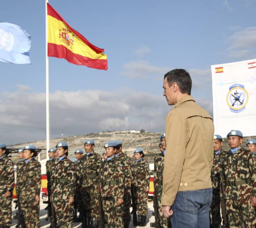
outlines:
[[[27,164],[22,161],[22,165],[17,173],[17,185],[21,191],[26,189],[27,194],[40,195],[41,190],[41,164],[32,158]],[[19,192],[18,192],[19,194]]]

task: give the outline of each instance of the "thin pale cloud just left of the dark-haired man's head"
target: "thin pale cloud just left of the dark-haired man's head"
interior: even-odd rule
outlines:
[[[148,78],[164,75],[170,67],[158,67],[150,65],[147,61],[130,61],[124,64],[125,71],[122,73],[130,78]]]

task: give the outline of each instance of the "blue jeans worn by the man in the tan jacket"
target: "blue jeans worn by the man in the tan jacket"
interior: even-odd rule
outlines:
[[[212,188],[178,191],[171,207],[172,228],[209,228]]]

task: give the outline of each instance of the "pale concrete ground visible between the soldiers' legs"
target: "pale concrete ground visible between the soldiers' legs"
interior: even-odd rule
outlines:
[[[44,199],[46,200],[46,199]],[[47,211],[44,210],[44,208],[47,206],[47,204],[43,203],[43,200],[40,200],[40,212],[39,212],[39,216],[40,216],[40,227],[42,228],[47,228],[50,227],[50,221],[46,221],[45,218],[47,216]],[[130,208],[130,210],[132,210],[132,208]],[[155,221],[155,217],[152,215],[152,212],[154,211],[153,208],[153,201],[151,199],[148,200],[148,216],[147,216],[147,225],[144,227],[150,227],[150,223]],[[12,214],[13,216],[16,214],[16,210],[15,210],[15,203],[12,203]],[[17,219],[13,218],[12,219],[12,225],[11,228],[15,228],[15,226],[17,225]],[[81,223],[74,223],[73,227],[75,228],[81,228],[82,225]],[[130,222],[129,228],[132,228],[133,223],[132,220]],[[139,226],[138,226],[139,227]]]

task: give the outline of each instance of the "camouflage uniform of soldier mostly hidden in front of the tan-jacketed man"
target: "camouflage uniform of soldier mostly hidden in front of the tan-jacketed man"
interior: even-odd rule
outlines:
[[[158,214],[160,225],[163,228],[170,227],[170,222],[168,222],[167,218],[164,217],[162,213],[162,203],[161,197],[163,192],[163,170],[164,170],[164,154],[158,154],[154,158],[154,183],[155,183],[155,195],[157,197],[158,202]]]

